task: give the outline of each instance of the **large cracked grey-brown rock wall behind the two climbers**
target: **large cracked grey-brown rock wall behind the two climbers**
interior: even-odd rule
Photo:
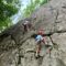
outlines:
[[[1,34],[3,40],[0,35],[0,66],[66,66],[66,0],[51,0],[31,18],[35,31],[23,34],[20,22]],[[34,18],[36,20],[33,21]],[[53,45],[53,50],[46,54],[46,48],[42,45],[41,57],[36,59],[36,43],[31,35],[41,28],[44,30],[45,41]],[[4,36],[6,34],[9,35]]]

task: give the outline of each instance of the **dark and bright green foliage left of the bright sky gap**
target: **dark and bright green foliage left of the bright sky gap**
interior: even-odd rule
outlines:
[[[0,0],[0,29],[12,24],[10,18],[19,10],[19,0]]]

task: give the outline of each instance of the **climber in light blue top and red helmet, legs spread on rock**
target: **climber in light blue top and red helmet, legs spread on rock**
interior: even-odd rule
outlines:
[[[40,52],[41,52],[41,44],[45,44],[45,47],[46,47],[46,53],[50,53],[51,52],[51,45],[47,44],[47,42],[45,41],[45,37],[44,37],[44,31],[43,30],[40,30],[38,33],[37,33],[37,36],[35,37],[35,42],[36,42],[36,54],[35,54],[35,57],[40,57]]]

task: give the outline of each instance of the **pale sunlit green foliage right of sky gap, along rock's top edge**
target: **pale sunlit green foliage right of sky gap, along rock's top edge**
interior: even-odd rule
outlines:
[[[44,3],[47,3],[47,0],[30,0],[30,3],[24,9],[24,18],[30,16],[36,8]]]

